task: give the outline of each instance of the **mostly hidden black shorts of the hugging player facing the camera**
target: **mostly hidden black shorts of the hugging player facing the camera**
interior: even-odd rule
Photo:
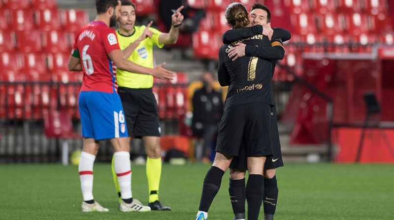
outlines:
[[[267,159],[265,160],[264,169],[272,169],[272,168],[283,166],[277,117],[273,111],[271,111],[271,146],[273,150],[273,155],[267,157]],[[243,146],[241,146],[240,154],[238,155],[238,157],[234,157],[232,159],[230,168],[247,170],[246,157],[244,151],[245,150]]]

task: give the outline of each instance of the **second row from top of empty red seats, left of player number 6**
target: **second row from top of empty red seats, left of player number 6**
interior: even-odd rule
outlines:
[[[89,21],[83,9],[13,9],[0,8],[0,29],[28,31],[40,29],[77,31]]]

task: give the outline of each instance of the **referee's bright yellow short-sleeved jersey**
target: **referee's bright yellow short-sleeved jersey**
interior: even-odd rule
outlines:
[[[130,36],[124,36],[116,31],[118,36],[120,49],[123,50],[128,47],[132,42],[138,39],[144,32],[146,26],[134,26],[134,33]],[[134,52],[129,56],[128,60],[144,66],[153,68],[153,45],[157,45],[162,48],[164,44],[159,44],[159,36],[162,34],[158,29],[149,28],[152,30],[152,38],[145,38],[141,43],[135,48]],[[118,85],[121,87],[128,88],[152,88],[153,86],[153,76],[147,74],[131,73],[125,70],[116,70],[116,78]]]

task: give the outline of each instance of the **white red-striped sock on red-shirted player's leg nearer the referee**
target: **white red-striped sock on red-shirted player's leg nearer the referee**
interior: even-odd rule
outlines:
[[[114,153],[115,173],[118,176],[120,192],[123,199],[132,197],[131,194],[131,165],[130,153],[118,151]]]

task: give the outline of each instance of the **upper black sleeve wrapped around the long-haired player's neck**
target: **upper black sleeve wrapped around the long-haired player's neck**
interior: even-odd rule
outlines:
[[[248,37],[252,37],[256,34],[262,34],[262,33],[263,33],[263,26],[261,25],[255,25],[252,27],[246,27],[240,29],[230,29],[223,33],[222,41],[224,44],[230,44],[234,41],[242,40]]]

